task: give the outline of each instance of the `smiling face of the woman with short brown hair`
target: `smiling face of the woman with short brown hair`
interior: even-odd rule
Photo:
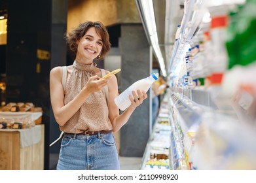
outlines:
[[[90,61],[99,56],[103,46],[102,39],[96,33],[95,27],[90,27],[77,44],[77,57]]]

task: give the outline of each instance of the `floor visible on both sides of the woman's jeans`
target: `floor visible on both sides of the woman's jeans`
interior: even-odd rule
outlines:
[[[139,170],[142,163],[141,157],[119,157],[121,170]],[[50,154],[50,169],[56,169],[58,154]]]

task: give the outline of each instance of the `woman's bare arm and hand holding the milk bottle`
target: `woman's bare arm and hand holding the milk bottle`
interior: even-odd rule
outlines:
[[[115,104],[115,97],[118,95],[118,86],[117,86],[117,78],[116,76],[111,76],[108,83],[109,88],[109,119],[111,121],[111,124],[113,126],[113,132],[119,131],[119,129],[128,122],[132,112],[141,105],[144,99],[147,98],[147,93],[141,92],[140,90],[137,90],[137,93],[139,95],[139,99],[136,96],[136,93],[133,92],[134,99],[132,96],[130,96],[130,101],[132,102],[132,105],[128,107],[122,114],[119,114],[119,108]]]

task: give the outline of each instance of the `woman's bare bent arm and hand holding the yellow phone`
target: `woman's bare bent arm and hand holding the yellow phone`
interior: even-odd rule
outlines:
[[[92,76],[82,88],[81,92],[67,105],[64,105],[64,88],[62,86],[62,67],[54,67],[50,71],[50,101],[56,122],[64,125],[82,106],[88,95],[101,90],[108,79],[98,80],[99,76]]]

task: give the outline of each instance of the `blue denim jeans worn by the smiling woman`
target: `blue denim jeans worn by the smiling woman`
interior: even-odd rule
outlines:
[[[64,133],[57,170],[118,170],[119,156],[112,133]]]

